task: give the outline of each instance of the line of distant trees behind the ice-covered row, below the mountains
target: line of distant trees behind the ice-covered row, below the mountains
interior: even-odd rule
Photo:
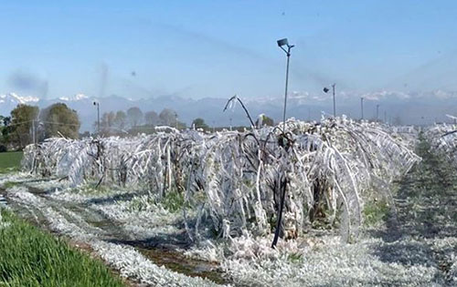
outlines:
[[[256,126],[272,126],[273,120],[260,115]],[[7,149],[24,149],[28,144],[41,142],[46,138],[85,138],[90,136],[128,136],[140,133],[154,133],[156,126],[169,126],[185,129],[186,123],[178,119],[175,110],[164,108],[160,113],[154,110],[143,113],[141,108],[133,107],[126,112],[109,111],[101,115],[100,128],[98,120],[93,123],[95,133],[85,131],[80,134],[80,118],[76,110],[64,103],[56,103],[48,108],[19,104],[11,111],[10,116],[0,116],[0,152]],[[203,118],[195,118],[190,128],[205,131],[216,131],[222,128],[210,128]],[[227,127],[226,127],[227,128]],[[231,128],[231,127],[230,127]],[[233,127],[243,130],[246,127]]]

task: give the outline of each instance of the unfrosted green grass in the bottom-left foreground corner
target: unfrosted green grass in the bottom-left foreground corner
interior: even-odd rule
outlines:
[[[123,286],[101,261],[0,212],[0,286]]]

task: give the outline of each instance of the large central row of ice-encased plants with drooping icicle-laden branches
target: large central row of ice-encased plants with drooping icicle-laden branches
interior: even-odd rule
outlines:
[[[192,241],[208,233],[267,235],[277,222],[282,238],[291,239],[322,218],[337,223],[348,241],[358,235],[367,193],[388,196],[392,180],[420,160],[377,123],[289,119],[285,127],[212,134],[157,127],[134,138],[48,138],[27,146],[23,168],[75,186],[139,188],[158,201],[179,192]]]

